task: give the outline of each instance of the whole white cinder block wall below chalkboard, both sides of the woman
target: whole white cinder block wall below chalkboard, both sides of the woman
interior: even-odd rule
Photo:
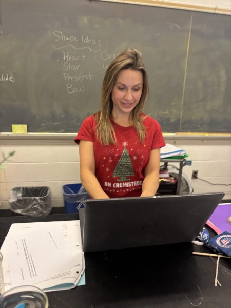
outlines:
[[[199,178],[213,183],[231,183],[231,144],[229,140],[173,140],[165,138],[186,150],[192,166],[183,168],[191,178],[192,170],[199,170]],[[79,149],[73,137],[63,140],[0,139],[0,153],[16,150],[12,162],[0,169],[1,209],[9,208],[10,190],[17,186],[49,186],[52,206],[63,206],[62,185],[79,183]],[[231,186],[209,185],[191,180],[194,193],[224,191],[224,199],[231,199]]]

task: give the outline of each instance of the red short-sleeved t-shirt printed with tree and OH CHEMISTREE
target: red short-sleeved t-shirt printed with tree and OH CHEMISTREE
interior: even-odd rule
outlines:
[[[90,115],[83,121],[74,139],[76,143],[80,140],[93,142],[95,176],[110,198],[140,196],[150,151],[165,146],[160,124],[149,116],[143,124],[147,131],[143,143],[136,128],[113,123],[117,144],[106,146],[97,139],[97,122],[94,115]]]

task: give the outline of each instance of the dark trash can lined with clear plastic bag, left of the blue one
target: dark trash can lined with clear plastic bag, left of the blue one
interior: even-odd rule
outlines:
[[[51,211],[51,190],[46,186],[15,187],[9,203],[14,213],[28,216],[48,215]]]

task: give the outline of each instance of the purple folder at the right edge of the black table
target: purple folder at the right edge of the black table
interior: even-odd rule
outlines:
[[[231,216],[231,203],[221,203],[217,206],[214,213],[210,216],[206,224],[217,234],[224,231],[231,232],[231,222],[228,217]]]

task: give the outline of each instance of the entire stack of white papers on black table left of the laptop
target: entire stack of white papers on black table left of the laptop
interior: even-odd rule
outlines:
[[[56,291],[85,284],[79,220],[12,224],[1,252],[5,291],[20,285]]]

